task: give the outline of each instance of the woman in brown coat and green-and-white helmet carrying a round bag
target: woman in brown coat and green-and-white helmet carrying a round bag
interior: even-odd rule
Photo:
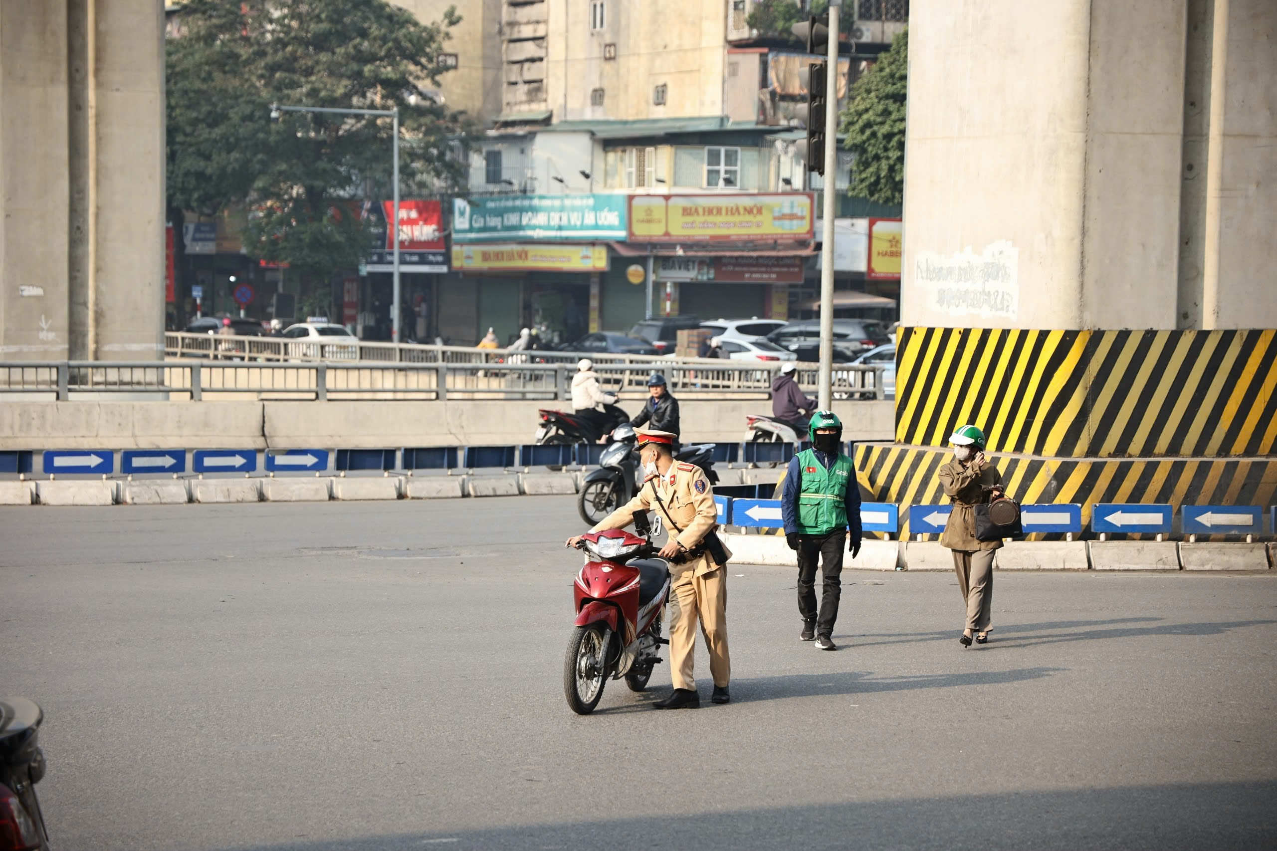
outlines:
[[[940,468],[939,476],[953,510],[940,544],[953,550],[958,588],[967,602],[967,628],[958,642],[971,647],[972,633],[979,644],[988,640],[994,607],[994,550],[1002,546],[1000,540],[981,541],[976,537],[976,505],[1001,495],[1002,476],[985,457],[985,433],[976,426],[962,426],[953,433],[949,443],[954,447],[954,459]]]

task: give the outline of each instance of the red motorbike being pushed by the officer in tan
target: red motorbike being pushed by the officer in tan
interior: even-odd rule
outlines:
[[[577,714],[594,712],[609,677],[646,689],[669,643],[660,635],[669,563],[651,558],[646,515],[635,517],[635,531],[590,532],[577,544],[589,556],[572,586],[576,621],[563,657],[563,694]]]

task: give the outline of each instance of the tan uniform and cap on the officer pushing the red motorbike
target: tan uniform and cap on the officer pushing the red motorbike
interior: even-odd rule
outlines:
[[[635,433],[640,444],[645,443],[645,436],[661,443],[676,438],[668,431],[649,429],[636,429]],[[665,475],[644,482],[633,499],[599,521],[590,531],[622,528],[633,521],[636,513],[649,510],[660,515],[670,540],[677,540],[684,550],[693,552],[700,549],[701,540],[718,526],[714,490],[705,471],[696,464],[676,461]],[[730,552],[728,556],[730,558]],[[727,649],[727,568],[701,550],[681,564],[670,563],[669,572],[673,578],[669,601],[669,669],[674,688],[696,690],[692,657],[697,619],[710,651],[714,685],[727,688],[732,676]]]

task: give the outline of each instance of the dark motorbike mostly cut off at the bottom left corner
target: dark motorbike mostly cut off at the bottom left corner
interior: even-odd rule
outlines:
[[[36,743],[45,713],[26,698],[0,700],[0,848],[49,851],[36,783],[45,754]]]

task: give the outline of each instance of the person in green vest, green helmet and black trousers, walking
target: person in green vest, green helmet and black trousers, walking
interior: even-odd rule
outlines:
[[[854,559],[861,551],[861,490],[856,467],[842,453],[843,424],[833,411],[811,418],[812,448],[789,462],[780,490],[785,541],[798,551],[798,615],[805,642],[835,649],[831,634],[843,593],[843,544]],[[816,611],[816,563],[821,561],[824,592]]]

